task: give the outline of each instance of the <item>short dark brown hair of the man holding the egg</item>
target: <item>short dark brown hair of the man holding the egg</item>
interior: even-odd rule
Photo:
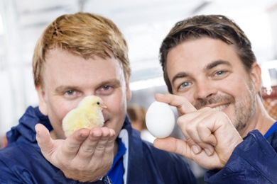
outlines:
[[[203,37],[219,39],[229,45],[233,44],[246,71],[250,71],[252,64],[256,62],[254,52],[251,50],[251,42],[239,28],[239,25],[231,19],[221,15],[187,18],[175,24],[163,40],[160,48],[163,78],[168,86],[169,93],[173,93],[173,91],[166,70],[168,52],[186,40],[195,40]]]

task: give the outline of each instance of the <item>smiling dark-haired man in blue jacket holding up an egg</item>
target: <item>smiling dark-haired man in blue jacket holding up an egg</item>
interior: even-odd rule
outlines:
[[[261,68],[251,42],[226,16],[194,16],[170,30],[160,49],[186,141],[168,137],[154,146],[209,169],[207,183],[277,183],[277,122],[260,96]]]

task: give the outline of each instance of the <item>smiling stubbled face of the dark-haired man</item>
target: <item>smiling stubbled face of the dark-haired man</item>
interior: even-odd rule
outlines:
[[[167,72],[173,94],[185,96],[195,108],[226,113],[241,136],[253,130],[259,66],[249,74],[232,45],[222,40],[188,40],[168,52]]]

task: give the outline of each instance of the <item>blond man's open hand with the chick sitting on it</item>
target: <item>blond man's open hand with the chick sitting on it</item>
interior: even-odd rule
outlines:
[[[106,175],[114,159],[115,132],[107,127],[92,130],[80,129],[67,137],[50,137],[46,127],[36,125],[38,145],[55,167],[65,177],[81,182],[92,182]]]

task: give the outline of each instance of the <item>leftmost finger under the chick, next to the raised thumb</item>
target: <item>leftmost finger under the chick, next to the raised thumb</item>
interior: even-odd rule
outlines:
[[[82,142],[89,136],[89,130],[82,128],[73,132],[67,139],[65,139],[65,144],[62,146],[63,155],[67,159],[74,159],[77,152],[80,149]]]

